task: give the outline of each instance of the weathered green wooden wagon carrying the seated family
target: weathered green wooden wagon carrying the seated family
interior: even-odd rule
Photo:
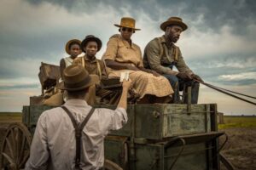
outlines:
[[[43,75],[53,77],[40,79],[44,94],[59,76],[41,69]],[[114,109],[116,106],[94,107]],[[41,105],[38,98],[23,106],[22,123],[11,124],[3,137],[0,170],[24,168],[38,117],[51,108]],[[129,120],[125,127],[110,132],[105,139],[107,170],[219,170],[220,160],[233,169],[219,154],[224,144],[219,146],[218,137],[224,133],[218,132],[217,105],[128,105],[127,113]]]

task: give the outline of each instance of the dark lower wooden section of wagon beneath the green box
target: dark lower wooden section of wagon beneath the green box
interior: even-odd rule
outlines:
[[[218,151],[215,145],[220,133],[212,136],[207,133],[194,139],[185,139],[181,155],[181,144],[176,143],[166,147],[164,142],[132,144],[131,140],[120,137],[108,137],[105,139],[105,157],[117,163],[124,170],[217,170],[219,169]],[[203,138],[202,138],[203,137]],[[126,154],[126,155],[125,155]],[[178,156],[178,158],[177,158]],[[174,162],[177,158],[177,161]],[[125,161],[126,160],[126,161]]]

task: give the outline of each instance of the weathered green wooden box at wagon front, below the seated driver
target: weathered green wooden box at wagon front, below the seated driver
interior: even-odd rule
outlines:
[[[113,109],[113,105],[98,107]],[[128,105],[127,124],[110,134],[145,139],[165,139],[173,136],[212,131],[217,114],[216,105],[154,104]]]

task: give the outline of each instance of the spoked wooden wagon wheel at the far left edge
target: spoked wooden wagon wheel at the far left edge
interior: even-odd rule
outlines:
[[[24,168],[29,156],[32,136],[21,123],[9,125],[1,145],[0,169]]]

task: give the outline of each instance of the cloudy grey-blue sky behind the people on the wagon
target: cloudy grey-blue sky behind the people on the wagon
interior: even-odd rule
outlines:
[[[189,29],[177,46],[189,67],[205,82],[256,96],[255,8],[254,0],[0,0],[0,111],[21,111],[40,94],[40,63],[58,65],[69,39],[100,37],[100,59],[124,16],[142,29],[132,37],[142,50],[164,33],[161,22],[182,17]],[[255,105],[203,85],[200,103],[217,103],[225,114],[256,114]]]

